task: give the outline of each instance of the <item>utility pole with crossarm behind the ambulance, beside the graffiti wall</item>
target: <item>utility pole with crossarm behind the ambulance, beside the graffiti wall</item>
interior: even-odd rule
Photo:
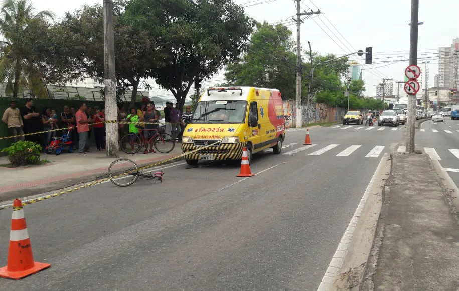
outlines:
[[[296,0],[296,128],[301,128],[302,124],[302,110],[301,110],[301,16],[320,14],[321,11],[301,12],[301,0]]]

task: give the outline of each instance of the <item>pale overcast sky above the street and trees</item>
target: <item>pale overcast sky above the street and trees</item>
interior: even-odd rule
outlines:
[[[245,13],[257,21],[282,23],[292,30],[296,39],[296,23],[291,19],[296,14],[295,0],[233,0],[245,8]],[[459,11],[457,0],[419,1],[418,64],[428,64],[429,87],[434,85],[434,76],[438,72],[438,47],[449,47],[454,38],[459,37],[459,22],[454,13]],[[92,0],[36,0],[37,10],[51,10],[58,18],[67,11],[74,11],[83,4],[95,4],[102,1]],[[351,5],[352,3],[352,5]],[[367,96],[375,96],[376,85],[383,78],[404,81],[404,70],[409,59],[410,11],[409,0],[301,0],[301,11],[317,11],[301,24],[301,50],[308,50],[308,41],[313,51],[320,54],[349,54],[356,50],[365,51],[373,47],[373,64],[365,65],[365,56],[351,56],[363,65],[363,79]],[[448,14],[448,12],[451,12]],[[289,21],[291,20],[291,21]],[[304,53],[303,53],[304,55]],[[304,56],[305,58],[305,56]],[[421,64],[424,70],[425,65]],[[222,83],[223,72],[203,86]],[[155,86],[154,81],[147,81]],[[396,92],[394,92],[396,94]],[[173,99],[172,94],[157,86],[149,92],[150,96]],[[172,97],[172,98],[171,98]]]

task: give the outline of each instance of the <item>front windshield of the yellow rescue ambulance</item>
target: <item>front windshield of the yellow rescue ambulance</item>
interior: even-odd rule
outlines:
[[[244,123],[247,101],[202,101],[196,106],[192,123]]]

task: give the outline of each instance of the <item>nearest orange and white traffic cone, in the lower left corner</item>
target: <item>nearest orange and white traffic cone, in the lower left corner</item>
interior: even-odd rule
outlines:
[[[0,277],[19,280],[50,266],[50,264],[34,262],[22,202],[16,199],[13,202],[8,264],[0,268]]]

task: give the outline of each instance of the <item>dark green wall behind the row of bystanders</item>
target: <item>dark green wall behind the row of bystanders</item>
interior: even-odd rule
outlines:
[[[18,102],[18,108],[21,109],[25,106],[26,100],[24,98],[0,98],[0,116],[3,116],[5,110],[10,107],[10,101],[16,100]],[[86,103],[87,106],[98,106],[100,109],[105,107],[105,103],[103,101],[79,101],[79,100],[57,100],[57,99],[34,99],[34,106],[37,108],[38,112],[42,112],[44,107],[55,108],[57,111],[57,116],[59,117],[61,113],[64,111],[64,105],[68,105],[69,107],[74,107],[75,110],[78,110],[82,103]],[[124,105],[124,109],[126,112],[129,109],[129,102],[122,102],[121,104]],[[135,104],[137,108],[140,108],[141,102]],[[9,136],[8,126],[5,123],[0,124],[0,137]],[[13,139],[0,139],[0,149],[10,146],[13,142]],[[94,134],[91,134],[91,144],[95,144],[94,142]],[[5,153],[0,153],[0,155],[5,155]]]

